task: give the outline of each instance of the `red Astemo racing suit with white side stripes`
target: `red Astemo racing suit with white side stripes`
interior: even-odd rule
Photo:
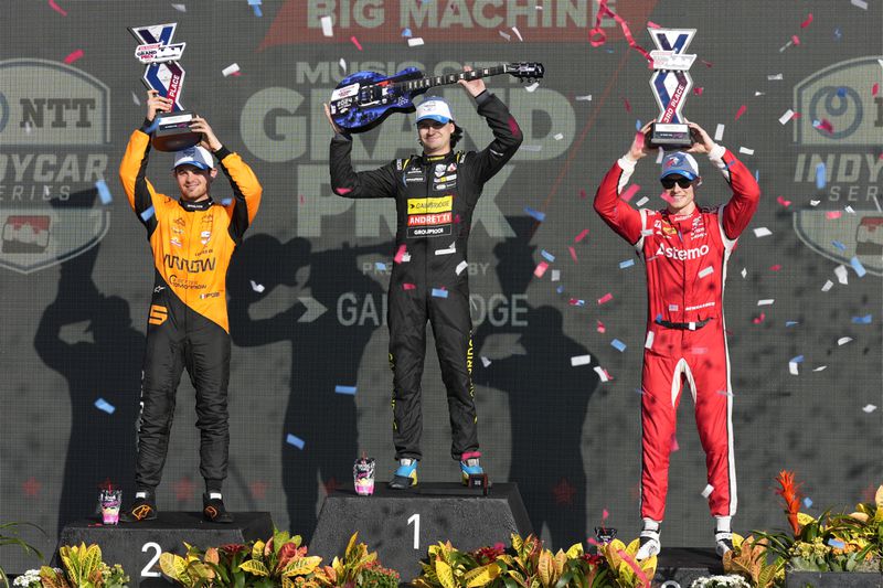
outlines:
[[[730,357],[723,316],[726,261],[760,197],[754,175],[716,146],[709,158],[733,196],[716,209],[685,216],[632,209],[618,197],[635,170],[624,157],[595,194],[595,211],[645,261],[647,338],[641,375],[641,517],[661,522],[669,456],[683,382],[690,384],[705,451],[709,506],[714,516],[736,513]]]

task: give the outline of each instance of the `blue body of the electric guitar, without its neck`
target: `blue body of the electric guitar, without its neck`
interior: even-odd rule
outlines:
[[[394,86],[398,82],[419,79],[423,72],[407,67],[385,77],[376,72],[357,72],[344,77],[331,94],[329,109],[338,127],[349,132],[373,129],[392,113],[413,113],[414,98],[426,88],[404,90]]]

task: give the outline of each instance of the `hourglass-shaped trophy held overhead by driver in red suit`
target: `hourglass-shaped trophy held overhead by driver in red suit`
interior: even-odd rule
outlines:
[[[695,29],[648,29],[657,49],[650,52],[653,61],[653,75],[650,77],[659,118],[647,133],[650,147],[680,149],[693,145],[690,127],[683,118],[683,105],[693,87],[690,66],[695,55],[688,55],[688,45],[696,33]]]

